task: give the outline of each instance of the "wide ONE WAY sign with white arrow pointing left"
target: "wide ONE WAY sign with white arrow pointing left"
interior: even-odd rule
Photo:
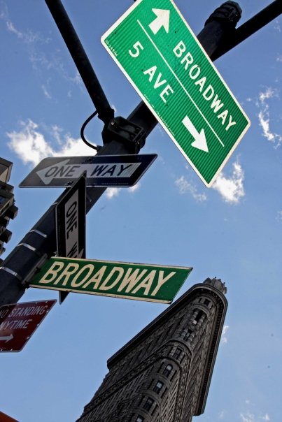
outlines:
[[[133,186],[157,154],[95,155],[43,159],[20,187],[70,187],[85,171],[87,187]]]

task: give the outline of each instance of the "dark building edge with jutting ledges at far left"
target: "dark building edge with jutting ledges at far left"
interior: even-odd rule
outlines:
[[[7,243],[12,236],[7,228],[8,223],[16,217],[18,210],[15,206],[14,187],[7,183],[12,166],[10,161],[0,158],[0,255],[5,252],[3,243]]]

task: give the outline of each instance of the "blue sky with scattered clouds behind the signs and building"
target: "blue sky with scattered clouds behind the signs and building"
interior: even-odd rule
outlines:
[[[220,6],[177,1],[196,34]],[[270,0],[241,0],[240,24]],[[100,42],[130,1],[65,0],[116,115],[139,96]],[[0,0],[1,154],[13,161],[19,214],[13,247],[62,189],[19,189],[45,157],[88,155],[80,127],[94,111],[45,1]],[[204,415],[195,421],[281,420],[282,20],[215,64],[251,128],[210,189],[157,125],[141,152],[158,158],[130,189],[107,189],[87,214],[87,258],[192,266],[181,291],[206,277],[227,286],[225,319]],[[101,145],[102,122],[85,131]],[[57,298],[29,289],[22,301]],[[1,354],[0,409],[21,422],[75,421],[107,372],[106,360],[167,305],[72,293],[20,353]]]

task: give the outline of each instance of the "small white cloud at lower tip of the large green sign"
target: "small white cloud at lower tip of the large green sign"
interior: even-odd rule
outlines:
[[[223,200],[230,204],[237,204],[241,198],[245,196],[244,191],[244,170],[241,168],[241,164],[238,159],[232,164],[233,172],[230,178],[225,177],[223,173],[220,173],[213,183],[212,188],[216,189],[223,197]]]

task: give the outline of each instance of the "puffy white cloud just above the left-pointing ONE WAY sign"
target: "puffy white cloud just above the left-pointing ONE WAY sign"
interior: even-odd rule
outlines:
[[[55,148],[54,142],[45,140],[43,133],[38,130],[38,124],[30,119],[20,124],[22,126],[20,131],[9,132],[7,136],[10,150],[15,152],[24,164],[36,165],[45,157],[95,154],[94,150],[87,147],[81,139],[74,139],[69,135],[62,137],[62,129],[57,126],[53,126],[50,133],[57,143]]]

